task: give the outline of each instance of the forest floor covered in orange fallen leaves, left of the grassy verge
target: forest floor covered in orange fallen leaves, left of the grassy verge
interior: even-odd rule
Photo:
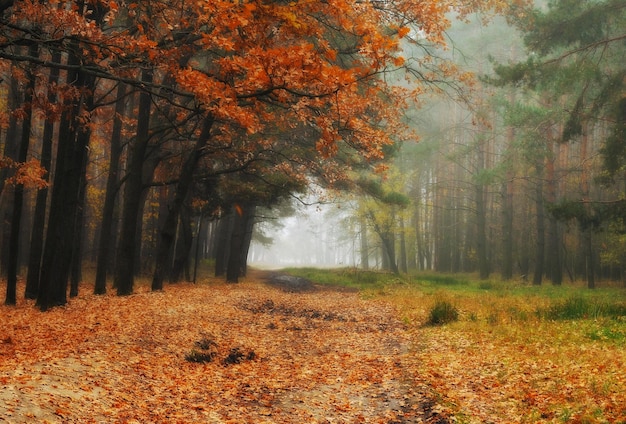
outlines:
[[[0,422],[448,422],[388,303],[263,277],[0,306]]]

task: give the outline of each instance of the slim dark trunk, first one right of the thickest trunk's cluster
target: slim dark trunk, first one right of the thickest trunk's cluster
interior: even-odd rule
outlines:
[[[109,175],[107,176],[106,193],[102,207],[102,223],[100,224],[100,240],[98,244],[98,260],[96,264],[95,294],[106,293],[107,270],[109,269],[110,253],[115,244],[113,218],[115,199],[119,190],[120,157],[122,156],[122,116],[126,108],[126,85],[117,87],[117,103],[115,104],[115,118],[111,133],[111,157],[109,160]]]

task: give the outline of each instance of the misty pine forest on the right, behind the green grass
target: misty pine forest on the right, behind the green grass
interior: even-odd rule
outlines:
[[[272,253],[537,285],[625,281],[624,3],[536,3],[522,17],[453,24],[443,57],[473,73],[465,97],[440,85],[409,108],[417,142]]]

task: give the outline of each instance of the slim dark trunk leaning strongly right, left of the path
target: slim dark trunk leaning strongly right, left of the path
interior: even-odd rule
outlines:
[[[198,136],[198,140],[194,146],[193,151],[189,154],[183,167],[181,174],[176,185],[176,192],[174,194],[174,200],[170,206],[169,213],[163,223],[161,229],[161,237],[159,239],[159,245],[156,255],[156,266],[154,271],[154,277],[152,279],[152,290],[163,289],[163,279],[165,276],[165,265],[167,257],[169,256],[174,236],[176,235],[176,224],[178,222],[178,216],[183,207],[187,193],[191,188],[193,182],[193,174],[196,170],[198,161],[202,157],[204,146],[208,143],[211,137],[211,128],[213,127],[213,117],[208,116],[204,118],[202,131]]]

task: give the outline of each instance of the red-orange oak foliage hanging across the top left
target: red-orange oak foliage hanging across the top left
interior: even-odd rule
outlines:
[[[79,40],[82,72],[124,80],[171,101],[178,95],[183,111],[200,108],[248,134],[267,131],[268,124],[274,130],[306,125],[315,129],[323,157],[345,143],[367,160],[381,158],[382,147],[403,133],[399,111],[408,93],[381,78],[406,66],[400,41],[443,44],[449,10],[465,15],[503,4],[170,0],[120,7],[90,0],[85,3],[92,10],[84,13],[76,1],[12,3],[11,25],[0,32],[3,44],[30,39],[45,48],[38,58],[8,49],[2,57],[69,69],[51,63],[47,52]],[[104,14],[103,25],[96,14]],[[157,70],[154,84],[137,81],[145,67]]]

